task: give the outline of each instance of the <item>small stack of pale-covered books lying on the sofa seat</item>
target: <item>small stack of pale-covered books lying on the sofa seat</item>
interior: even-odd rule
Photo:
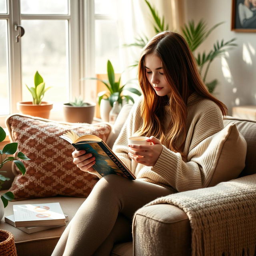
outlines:
[[[31,234],[66,225],[68,216],[62,212],[60,203],[15,204],[13,215],[5,216],[5,222]]]

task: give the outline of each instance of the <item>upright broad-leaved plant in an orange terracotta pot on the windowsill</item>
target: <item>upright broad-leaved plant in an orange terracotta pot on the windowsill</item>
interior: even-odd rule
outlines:
[[[17,108],[22,112],[22,114],[27,114],[30,116],[38,116],[42,118],[49,118],[50,110],[52,109],[52,103],[42,101],[44,93],[50,88],[45,88],[45,82],[42,76],[36,71],[34,76],[34,87],[28,87],[30,91],[33,102],[18,102]]]

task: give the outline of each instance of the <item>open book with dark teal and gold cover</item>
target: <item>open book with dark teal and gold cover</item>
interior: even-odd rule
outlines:
[[[87,134],[79,137],[71,130],[61,135],[60,138],[68,141],[76,150],[85,150],[86,154],[91,153],[96,161],[92,167],[102,177],[108,174],[118,174],[135,180],[136,177],[134,174],[132,174],[109,146],[98,136]]]

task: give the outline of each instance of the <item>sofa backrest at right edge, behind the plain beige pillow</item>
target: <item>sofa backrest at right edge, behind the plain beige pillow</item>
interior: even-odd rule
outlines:
[[[247,142],[245,167],[240,176],[256,173],[256,121],[226,116],[224,125],[235,123],[238,131],[244,136]]]

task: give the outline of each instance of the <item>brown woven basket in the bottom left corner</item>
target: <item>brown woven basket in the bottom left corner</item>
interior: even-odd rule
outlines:
[[[0,255],[17,256],[13,234],[2,229],[0,229]]]

